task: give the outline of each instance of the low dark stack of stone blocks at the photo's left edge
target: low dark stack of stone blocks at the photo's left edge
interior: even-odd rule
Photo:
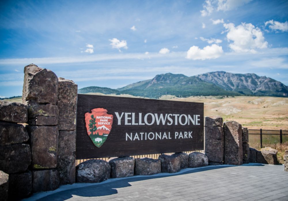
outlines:
[[[27,170],[31,164],[29,135],[22,124],[28,121],[28,109],[21,103],[0,101],[0,200],[20,200],[32,192],[32,174]],[[3,181],[3,183],[2,183]]]

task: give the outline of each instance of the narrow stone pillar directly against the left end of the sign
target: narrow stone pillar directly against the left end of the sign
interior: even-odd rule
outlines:
[[[75,183],[75,142],[77,84],[59,78],[58,84],[58,164],[60,185]]]

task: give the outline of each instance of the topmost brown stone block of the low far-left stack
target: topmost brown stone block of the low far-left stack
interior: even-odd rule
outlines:
[[[28,121],[27,105],[0,100],[0,121],[26,123]]]

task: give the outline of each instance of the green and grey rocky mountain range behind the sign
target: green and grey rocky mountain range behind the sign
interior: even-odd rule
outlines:
[[[90,86],[79,93],[100,92],[103,94],[130,94],[148,98],[162,95],[188,96],[288,96],[288,87],[266,76],[253,73],[233,74],[216,71],[196,76],[183,74],[160,74],[118,89]]]

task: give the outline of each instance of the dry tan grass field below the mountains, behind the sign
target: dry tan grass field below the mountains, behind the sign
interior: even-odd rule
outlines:
[[[101,93],[89,93],[105,95]],[[134,97],[128,94],[107,96]],[[191,96],[178,98],[162,96],[161,100],[178,100],[204,103],[204,115],[219,115],[224,121],[237,121],[249,129],[288,130],[288,98],[269,96]],[[8,101],[21,103],[21,98]]]

